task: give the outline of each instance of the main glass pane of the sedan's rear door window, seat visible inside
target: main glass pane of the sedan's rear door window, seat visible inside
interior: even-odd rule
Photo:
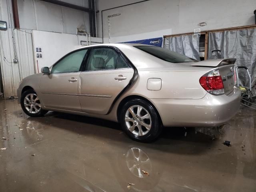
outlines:
[[[115,69],[118,53],[110,48],[92,49],[86,71]]]

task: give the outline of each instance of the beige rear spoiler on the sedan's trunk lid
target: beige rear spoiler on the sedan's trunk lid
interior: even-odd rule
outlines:
[[[235,64],[235,58],[228,59],[213,59],[213,60],[204,60],[191,64],[190,66],[200,66],[200,67],[220,67],[222,65],[231,65]]]

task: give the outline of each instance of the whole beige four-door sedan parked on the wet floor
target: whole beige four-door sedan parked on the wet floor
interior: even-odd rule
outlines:
[[[198,62],[141,44],[74,50],[18,88],[29,116],[51,111],[120,122],[130,138],[150,142],[163,126],[219,126],[239,109],[235,59]]]

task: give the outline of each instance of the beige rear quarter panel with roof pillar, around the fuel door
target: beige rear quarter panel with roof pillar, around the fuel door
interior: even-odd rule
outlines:
[[[133,46],[116,44],[138,70],[138,78],[126,94],[146,98],[200,99],[206,91],[199,83],[201,76],[213,68],[190,66],[191,63],[170,63]],[[149,78],[160,78],[160,90],[148,90]]]

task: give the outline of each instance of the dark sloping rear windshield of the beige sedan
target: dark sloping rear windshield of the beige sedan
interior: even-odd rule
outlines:
[[[197,60],[189,58],[185,55],[176,53],[174,51],[155,47],[155,46],[134,46],[150,55],[160,58],[164,61],[171,63],[185,63],[185,62],[197,62]]]

